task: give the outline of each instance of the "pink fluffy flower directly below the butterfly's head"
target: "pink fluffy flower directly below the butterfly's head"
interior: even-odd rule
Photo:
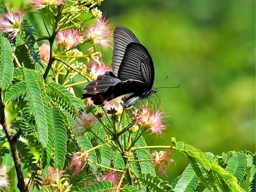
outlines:
[[[135,110],[133,117],[135,122],[144,126],[147,130],[151,130],[151,133],[161,134],[166,129],[166,125],[162,124],[163,112],[157,110],[154,114],[150,114],[148,107],[142,110]]]

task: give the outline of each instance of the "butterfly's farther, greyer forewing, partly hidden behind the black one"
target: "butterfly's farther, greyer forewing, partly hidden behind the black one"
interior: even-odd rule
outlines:
[[[132,42],[140,43],[131,30],[123,26],[117,26],[113,33],[114,50],[112,58],[112,72],[117,77],[119,66],[124,57],[127,45]]]

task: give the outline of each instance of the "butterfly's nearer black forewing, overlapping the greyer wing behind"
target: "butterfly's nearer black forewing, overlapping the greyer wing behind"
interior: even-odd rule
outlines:
[[[121,81],[137,80],[145,83],[149,91],[154,83],[155,70],[147,49],[139,43],[127,45],[117,77]]]

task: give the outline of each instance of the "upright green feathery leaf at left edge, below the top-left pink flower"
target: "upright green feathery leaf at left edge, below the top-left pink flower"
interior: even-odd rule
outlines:
[[[10,42],[5,37],[0,37],[0,88],[6,89],[13,78],[13,52]]]

